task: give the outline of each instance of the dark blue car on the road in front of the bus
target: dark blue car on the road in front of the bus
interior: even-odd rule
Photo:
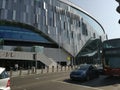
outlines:
[[[99,72],[98,69],[89,64],[81,65],[79,68],[73,70],[70,73],[70,78],[72,80],[90,80],[93,78],[98,78]]]

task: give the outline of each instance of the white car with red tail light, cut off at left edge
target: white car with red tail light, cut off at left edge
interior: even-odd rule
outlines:
[[[3,67],[0,67],[0,90],[11,90],[10,77]]]

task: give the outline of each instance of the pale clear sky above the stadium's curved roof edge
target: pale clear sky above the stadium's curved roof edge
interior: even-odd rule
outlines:
[[[69,0],[92,15],[105,29],[108,39],[120,38],[119,5],[115,0]]]

